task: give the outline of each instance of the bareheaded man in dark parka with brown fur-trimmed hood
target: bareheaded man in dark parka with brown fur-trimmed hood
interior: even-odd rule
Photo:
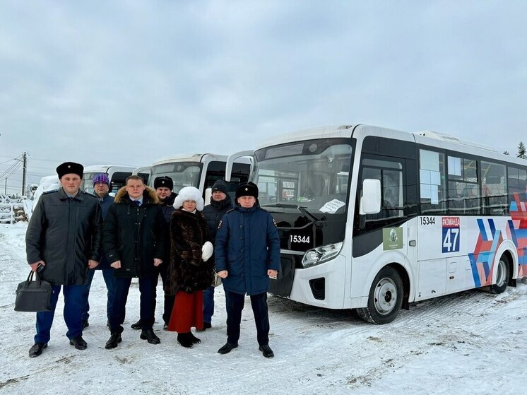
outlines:
[[[115,269],[115,294],[109,317],[111,336],[106,348],[121,342],[126,299],[133,277],[139,278],[141,293],[141,338],[151,344],[160,340],[152,329],[153,283],[157,266],[165,256],[165,218],[155,191],[145,186],[136,175],[126,178],[110,206],[103,227],[102,246]]]

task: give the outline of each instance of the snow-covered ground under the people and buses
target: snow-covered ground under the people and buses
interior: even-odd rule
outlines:
[[[16,285],[28,275],[26,223],[0,227],[0,391],[8,394],[524,394],[527,285],[501,295],[471,290],[415,303],[395,322],[374,326],[353,312],[269,296],[276,357],[263,358],[247,300],[239,348],[217,353],[225,335],[225,296],[217,288],[213,329],[179,346],[162,330],[158,299],[150,345],[130,329],[138,319],[132,283],[122,334],[105,350],[106,292],[97,273],[90,295],[87,350],[69,346],[59,297],[52,340],[38,358],[28,350],[35,314],[14,312]],[[161,287],[158,295],[162,294]]]

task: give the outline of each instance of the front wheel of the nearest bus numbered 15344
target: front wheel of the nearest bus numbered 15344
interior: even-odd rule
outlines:
[[[368,306],[357,309],[359,317],[372,324],[388,324],[396,319],[403,302],[403,281],[389,266],[377,273],[369,289]]]

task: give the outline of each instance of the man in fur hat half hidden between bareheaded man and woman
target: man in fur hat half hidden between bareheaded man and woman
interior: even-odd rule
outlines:
[[[175,192],[172,192],[173,188],[174,182],[170,177],[156,177],[156,179],[154,180],[155,194],[158,195],[159,204],[161,206],[161,210],[166,221],[165,237],[167,240],[170,236],[170,218],[172,218],[172,213],[175,211],[175,208],[172,205],[174,204],[174,199],[176,199],[177,196]],[[170,260],[170,244],[167,242],[166,246],[167,248],[165,248],[165,257],[162,258],[162,261],[165,262],[165,264],[158,266],[158,270],[161,275],[161,281],[163,283],[163,289],[165,289],[165,284],[167,282],[167,268],[168,261]],[[152,306],[152,314],[154,314],[155,312],[155,299],[158,295],[158,281],[159,276],[155,276],[155,280],[152,284],[154,303]],[[164,302],[165,303],[163,308],[163,329],[165,329],[166,331],[168,329],[168,323],[170,322],[170,314],[172,314],[172,308],[174,307],[174,295],[167,295],[165,293]],[[141,329],[142,326],[143,324],[141,323],[140,319],[138,322],[131,324],[131,329]]]

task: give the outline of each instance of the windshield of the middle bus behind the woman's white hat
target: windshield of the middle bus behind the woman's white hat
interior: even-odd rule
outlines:
[[[199,162],[174,162],[155,165],[150,171],[148,184],[153,187],[157,177],[167,176],[174,182],[174,192],[179,192],[183,187],[199,188],[199,179],[203,163]]]

